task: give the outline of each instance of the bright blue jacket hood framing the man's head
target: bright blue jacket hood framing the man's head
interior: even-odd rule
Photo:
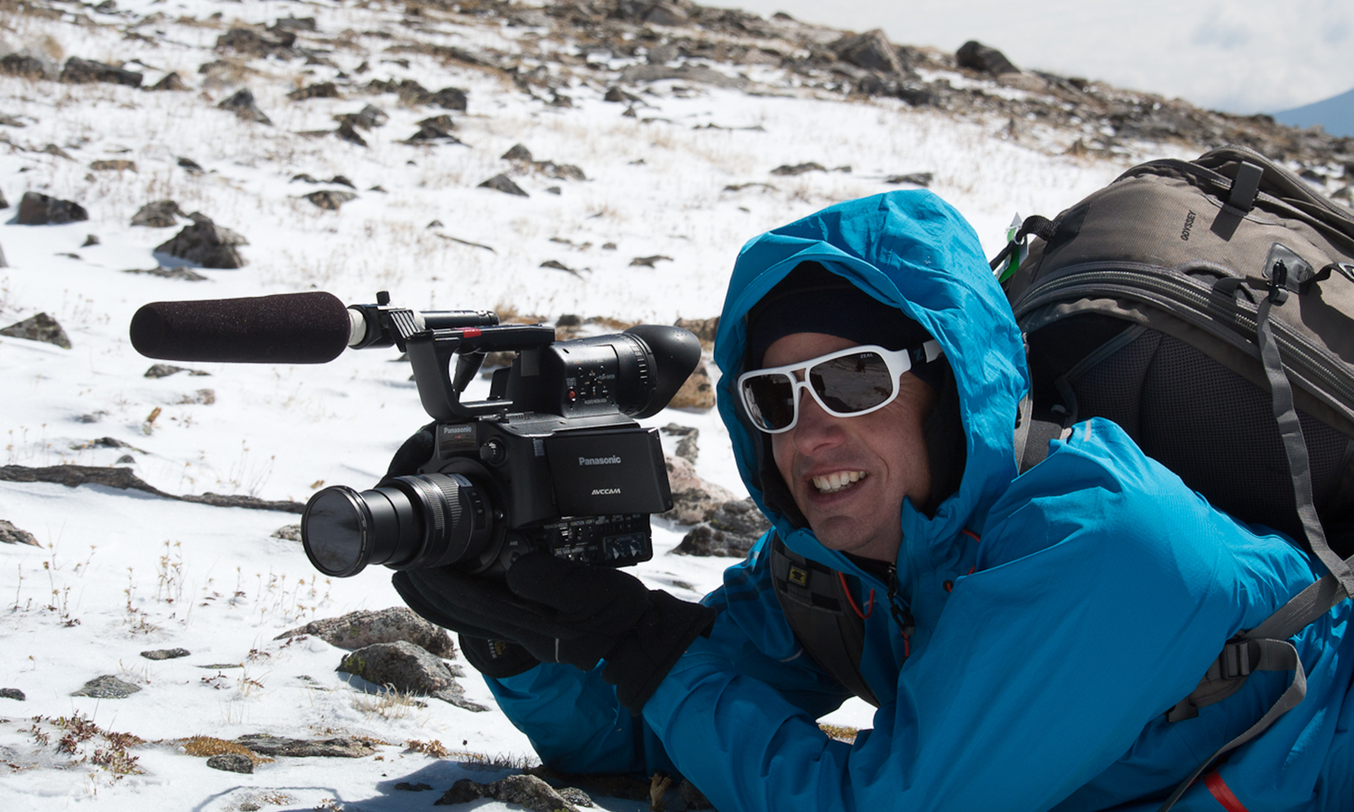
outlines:
[[[734,391],[743,372],[747,313],[800,263],[815,261],[875,299],[898,307],[941,345],[959,391],[967,461],[959,490],[933,517],[904,501],[903,559],[930,559],[961,531],[982,532],[987,508],[1017,474],[1013,430],[1029,388],[1025,349],[1010,306],[974,229],[926,191],[899,191],[825,208],[747,242],[738,254],[715,338],[722,372],[716,403],[739,474],[785,544],[837,570],[857,571],[769,509],[761,490],[757,429]],[[911,567],[909,567],[911,568]]]

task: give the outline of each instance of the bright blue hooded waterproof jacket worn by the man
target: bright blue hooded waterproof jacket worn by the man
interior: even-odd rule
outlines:
[[[904,501],[899,601],[865,620],[861,673],[880,700],[854,743],[816,719],[845,689],[806,655],[774,595],[762,539],[705,602],[720,609],[647,702],[616,704],[600,670],[539,666],[490,681],[542,759],[566,771],[674,769],[723,812],[785,809],[1156,809],[1200,762],[1282,693],[1254,674],[1193,720],[1164,712],[1221,644],[1323,570],[1280,535],[1213,510],[1113,422],[1078,424],[1018,475],[1024,345],[972,229],[930,192],[826,208],[749,242],[734,268],[715,360],[720,415],[753,498],[793,551],[886,586],[810,529],[766,510],[753,430],[733,382],[745,317],[799,263],[816,261],[898,307],[955,371],[967,463],[934,516]],[[1350,602],[1294,637],[1307,698],[1238,748],[1175,809],[1354,809]],[[1342,656],[1343,655],[1343,656]],[[1219,789],[1221,788],[1221,789]]]

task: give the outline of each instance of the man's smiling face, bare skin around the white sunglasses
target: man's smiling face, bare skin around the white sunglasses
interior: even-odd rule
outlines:
[[[854,345],[823,333],[792,333],[766,349],[762,367]],[[911,372],[903,374],[894,402],[860,417],[833,417],[807,392],[799,395],[799,422],[772,434],[772,453],[825,547],[890,563],[898,559],[903,497],[918,506],[930,497],[922,426],[934,399],[932,387]]]

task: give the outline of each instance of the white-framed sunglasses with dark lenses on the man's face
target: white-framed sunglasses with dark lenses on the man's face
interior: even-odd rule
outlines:
[[[903,349],[849,346],[798,364],[743,372],[738,397],[754,426],[779,434],[799,422],[802,390],[833,417],[858,417],[892,403],[903,372],[940,356],[934,338]]]

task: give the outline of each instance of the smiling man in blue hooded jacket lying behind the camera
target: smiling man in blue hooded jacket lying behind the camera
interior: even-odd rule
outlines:
[[[1288,674],[1257,673],[1167,721],[1225,640],[1320,571],[1108,421],[1018,475],[1021,336],[934,195],[842,203],[749,242],[715,359],[773,531],[705,606],[550,556],[506,587],[397,575],[463,633],[547,765],[676,769],[723,812],[1155,809],[1282,693]],[[841,579],[858,662],[806,654],[780,556]],[[1177,809],[1354,808],[1349,620],[1345,602],[1293,639],[1307,698]],[[849,673],[879,705],[853,744],[815,723]]]

